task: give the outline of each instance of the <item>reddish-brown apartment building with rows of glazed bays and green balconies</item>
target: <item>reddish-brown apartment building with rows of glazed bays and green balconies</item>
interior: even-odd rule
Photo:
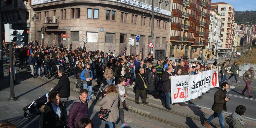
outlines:
[[[173,0],[170,56],[206,57],[211,0]],[[199,54],[203,51],[202,54]]]

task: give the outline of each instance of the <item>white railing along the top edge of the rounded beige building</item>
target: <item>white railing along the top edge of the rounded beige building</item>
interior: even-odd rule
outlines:
[[[49,3],[49,2],[53,2],[53,1],[62,1],[62,0],[33,0],[32,1],[32,5],[35,4],[42,4],[42,3]],[[118,3],[123,3],[123,4],[129,4],[132,6],[136,6],[142,9],[146,9],[149,11],[152,11],[152,5],[149,4],[145,4],[143,2],[139,2],[137,0],[106,0],[106,1],[114,1],[114,2],[118,2]],[[172,16],[172,12],[171,11],[167,11],[158,7],[154,7],[154,11],[164,14],[164,15],[168,15],[168,16]]]

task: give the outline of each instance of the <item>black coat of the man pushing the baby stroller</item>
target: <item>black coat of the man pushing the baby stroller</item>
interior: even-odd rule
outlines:
[[[52,89],[51,92],[58,91],[60,98],[68,98],[70,95],[70,82],[66,75],[62,75],[58,84]]]

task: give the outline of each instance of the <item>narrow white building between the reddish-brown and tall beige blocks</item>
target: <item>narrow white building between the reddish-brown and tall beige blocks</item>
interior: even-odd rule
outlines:
[[[210,18],[210,31],[209,31],[209,43],[206,48],[208,51],[207,58],[215,59],[218,52],[218,48],[221,47],[220,41],[220,29],[221,29],[221,18],[214,11],[211,11]]]

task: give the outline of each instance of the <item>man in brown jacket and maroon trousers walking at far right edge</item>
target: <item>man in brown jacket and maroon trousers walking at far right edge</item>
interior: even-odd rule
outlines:
[[[246,91],[246,89],[248,89],[247,90],[247,92],[248,92],[248,95],[249,95],[249,97],[250,98],[252,98],[253,96],[251,95],[251,93],[250,93],[250,85],[251,85],[251,83],[252,83],[252,80],[253,80],[253,78],[254,78],[254,72],[253,72],[253,68],[251,67],[248,71],[246,71],[245,73],[244,73],[244,75],[243,75],[243,79],[244,79],[244,81],[245,81],[245,83],[246,83],[246,86],[245,86],[245,88],[244,88],[244,90],[242,91],[242,95],[244,96],[244,92]]]

